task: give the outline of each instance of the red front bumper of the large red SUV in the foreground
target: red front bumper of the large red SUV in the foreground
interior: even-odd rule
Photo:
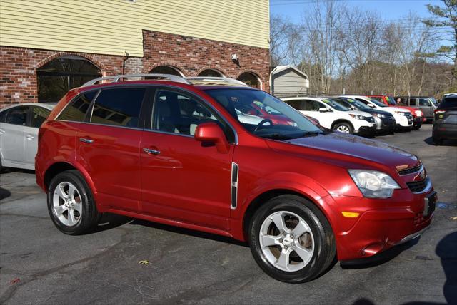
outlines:
[[[333,224],[338,260],[371,257],[417,237],[433,218],[433,209],[426,214],[427,196],[433,196],[434,205],[436,193],[431,185],[418,194],[409,189],[395,190],[388,199],[332,197],[338,217]],[[343,211],[359,215],[347,218]]]

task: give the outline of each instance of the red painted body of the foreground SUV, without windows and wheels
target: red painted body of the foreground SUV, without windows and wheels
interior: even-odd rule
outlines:
[[[205,93],[205,86],[171,81],[109,86],[126,84],[174,86],[198,95],[233,126],[238,143],[205,147],[193,137],[56,120],[76,95],[106,84],[75,88],[39,130],[36,182],[43,190],[60,171],[76,169],[94,194],[99,212],[241,241],[246,241],[249,217],[264,200],[281,193],[300,195],[328,219],[339,260],[370,257],[416,237],[431,224],[433,213],[424,217],[423,212],[424,198],[433,193],[433,187],[421,161],[411,153],[339,133],[287,141],[259,138]],[[94,143],[85,145],[79,138]],[[141,153],[144,148],[159,149],[161,155]],[[232,162],[239,165],[235,209],[231,208]],[[363,197],[348,175],[350,168],[385,172],[400,189],[388,199]],[[411,185],[418,183],[427,185],[415,193]]]

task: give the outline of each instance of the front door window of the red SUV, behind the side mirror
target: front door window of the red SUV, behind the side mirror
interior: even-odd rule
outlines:
[[[197,125],[206,122],[224,124],[205,105],[172,91],[159,91],[154,105],[154,129],[168,133],[194,135]]]

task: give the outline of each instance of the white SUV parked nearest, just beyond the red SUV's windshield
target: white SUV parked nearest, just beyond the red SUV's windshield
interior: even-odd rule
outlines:
[[[373,115],[351,110],[330,98],[283,98],[284,102],[304,115],[315,118],[321,126],[342,133],[374,135],[376,123]]]

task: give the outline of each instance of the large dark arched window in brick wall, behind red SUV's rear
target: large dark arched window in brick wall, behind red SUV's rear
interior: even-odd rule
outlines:
[[[58,102],[70,89],[99,77],[100,69],[84,57],[65,55],[54,58],[36,69],[38,101]]]

